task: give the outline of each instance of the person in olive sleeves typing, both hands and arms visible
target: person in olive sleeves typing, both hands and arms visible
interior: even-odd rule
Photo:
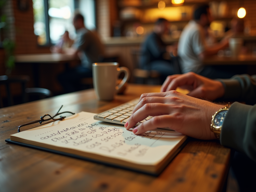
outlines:
[[[184,95],[174,91],[177,87],[189,89],[190,93]],[[240,191],[256,191],[255,95],[256,75],[244,74],[231,79],[211,80],[193,72],[176,74],[167,77],[161,93],[142,94],[124,126],[131,129],[147,116],[153,116],[133,128],[133,133],[139,135],[157,127],[169,127],[198,139],[218,138],[221,145],[237,151],[232,167]],[[220,112],[220,109],[225,108],[224,104],[209,102],[216,99],[244,101],[249,105],[234,102],[230,108]],[[221,128],[213,132],[212,122]]]

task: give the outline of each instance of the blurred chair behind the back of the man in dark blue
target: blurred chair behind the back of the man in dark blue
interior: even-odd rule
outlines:
[[[133,61],[133,77],[135,78],[135,82],[144,83],[144,84],[159,84],[160,82],[160,74],[156,70],[146,70],[140,69],[139,60],[142,55],[141,51],[138,49],[131,50],[132,61]]]

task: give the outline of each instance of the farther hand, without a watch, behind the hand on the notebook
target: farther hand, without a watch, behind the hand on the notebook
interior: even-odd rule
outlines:
[[[225,93],[220,81],[193,72],[168,76],[161,87],[161,92],[176,90],[177,87],[188,89],[190,93],[187,95],[200,99],[215,100],[223,97]]]

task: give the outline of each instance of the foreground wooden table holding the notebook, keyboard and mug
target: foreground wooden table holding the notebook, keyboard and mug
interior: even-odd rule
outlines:
[[[0,109],[1,191],[220,191],[229,169],[230,149],[219,141],[189,139],[158,177],[76,158],[7,144],[17,126],[46,113],[100,113],[160,86],[129,84],[125,95],[97,101],[92,89]],[[29,128],[29,127],[28,127]]]

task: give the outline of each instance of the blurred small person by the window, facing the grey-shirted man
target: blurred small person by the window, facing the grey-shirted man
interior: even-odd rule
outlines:
[[[65,31],[59,42],[51,47],[51,52],[53,53],[65,53],[66,49],[71,48],[74,43],[73,39],[70,39],[69,32]]]

